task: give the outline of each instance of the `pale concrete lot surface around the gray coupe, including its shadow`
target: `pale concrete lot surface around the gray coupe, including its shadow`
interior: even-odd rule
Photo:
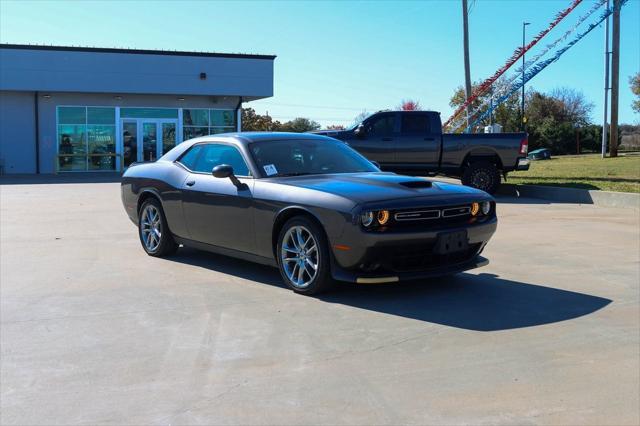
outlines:
[[[0,195],[2,424],[640,423],[637,210],[502,198],[489,266],[311,298],[147,256],[117,183]]]

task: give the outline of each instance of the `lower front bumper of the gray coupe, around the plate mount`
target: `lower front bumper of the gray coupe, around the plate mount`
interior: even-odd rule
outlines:
[[[484,266],[478,255],[495,232],[497,219],[484,223],[422,232],[365,232],[350,227],[333,242],[332,276],[339,281],[378,283],[449,275]],[[468,250],[439,255],[438,236],[466,230]],[[349,247],[348,250],[340,249]]]

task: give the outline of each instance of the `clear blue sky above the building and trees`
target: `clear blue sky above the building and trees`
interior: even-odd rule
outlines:
[[[531,55],[594,2],[583,0]],[[505,63],[522,43],[523,21],[531,23],[530,40],[569,4],[469,0],[472,80],[484,80]],[[451,95],[464,83],[461,0],[0,0],[0,42],[275,54],[274,96],[245,107],[280,121],[308,117],[323,126],[350,124],[362,111],[396,108],[403,99],[441,111],[444,121],[452,112]],[[620,52],[620,122],[639,123],[628,80],[640,71],[640,0],[629,0],[622,10]],[[601,123],[603,84],[601,25],[527,87],[577,89],[594,104],[592,120]]]

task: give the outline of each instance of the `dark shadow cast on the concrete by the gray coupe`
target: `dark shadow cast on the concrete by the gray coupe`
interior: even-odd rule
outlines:
[[[275,268],[182,248],[171,261],[284,287]],[[610,299],[500,278],[489,273],[400,284],[339,283],[317,296],[351,306],[473,331],[499,331],[566,321],[604,308]]]

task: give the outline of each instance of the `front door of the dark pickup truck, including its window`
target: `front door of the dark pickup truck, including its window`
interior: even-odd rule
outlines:
[[[393,146],[396,135],[396,113],[376,114],[363,123],[363,132],[349,145],[369,160],[377,161],[381,166],[395,161]]]

